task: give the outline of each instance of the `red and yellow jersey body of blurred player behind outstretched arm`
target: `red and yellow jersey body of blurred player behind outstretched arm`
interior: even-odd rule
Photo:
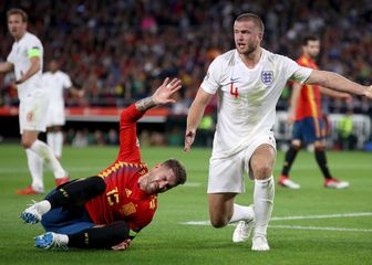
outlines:
[[[297,60],[301,66],[318,70],[314,61],[306,55]],[[320,88],[317,85],[302,85],[301,94],[296,109],[296,120],[307,117],[321,118]]]

